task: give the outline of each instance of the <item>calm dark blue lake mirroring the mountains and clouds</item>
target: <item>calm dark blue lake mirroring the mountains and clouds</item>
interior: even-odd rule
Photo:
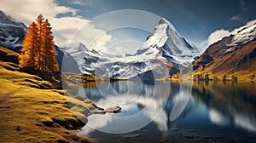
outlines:
[[[95,142],[255,142],[256,83],[97,83],[78,94],[119,113],[91,115],[79,131]]]

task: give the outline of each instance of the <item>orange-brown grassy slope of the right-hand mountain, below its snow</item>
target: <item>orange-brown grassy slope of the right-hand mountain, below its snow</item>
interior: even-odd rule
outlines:
[[[205,68],[200,66],[198,69],[195,70],[193,73],[196,74],[210,74],[210,78],[213,78],[214,76],[218,76],[219,78],[224,77],[224,75],[227,75],[230,79],[232,75],[238,77],[238,80],[247,80],[250,81],[252,75],[256,75],[256,60],[253,59],[250,62],[243,63],[242,66],[229,66],[230,64],[238,63],[244,56],[247,54],[250,54],[253,52],[253,49],[255,49],[256,42],[247,43],[246,46],[242,47],[241,49],[237,49],[236,53],[230,53],[230,54],[224,54],[222,50],[220,51],[214,51],[212,54],[211,52],[208,52],[207,54],[210,54],[213,57],[213,61],[208,63]],[[215,47],[214,47],[215,48]],[[217,48],[216,48],[217,49]],[[209,51],[211,51],[209,50]],[[219,54],[217,58],[215,58],[213,55]],[[198,60],[195,60],[195,64],[199,61],[203,61],[202,57],[206,53],[202,54],[201,57]]]

